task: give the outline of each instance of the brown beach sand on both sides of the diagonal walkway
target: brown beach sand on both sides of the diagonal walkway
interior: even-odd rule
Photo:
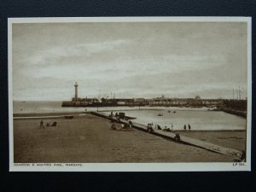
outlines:
[[[91,114],[56,121],[57,127],[39,129],[40,119],[14,120],[15,163],[148,163],[232,162],[233,157],[175,143],[143,131],[114,131],[108,119]],[[186,131],[224,147],[244,149],[245,131]]]

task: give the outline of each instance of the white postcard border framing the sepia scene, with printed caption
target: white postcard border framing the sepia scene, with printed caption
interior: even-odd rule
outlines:
[[[66,22],[247,22],[247,162],[234,163],[14,163],[12,24]],[[56,17],[8,19],[10,172],[208,172],[251,171],[252,18],[251,17]]]

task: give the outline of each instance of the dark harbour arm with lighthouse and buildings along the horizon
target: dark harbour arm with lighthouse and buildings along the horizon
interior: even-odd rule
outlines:
[[[79,84],[75,82],[75,93],[71,101],[63,101],[63,108],[106,108],[106,107],[178,107],[178,108],[208,108],[212,111],[224,111],[225,113],[236,114],[238,116],[247,117],[247,98],[241,99],[241,90],[239,87],[239,96],[237,99],[202,99],[200,96],[195,98],[170,98],[158,96],[154,98],[108,98],[108,96],[100,98],[100,96],[88,98],[79,97]]]

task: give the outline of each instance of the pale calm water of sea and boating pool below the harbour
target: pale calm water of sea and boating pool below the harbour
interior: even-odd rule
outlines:
[[[68,113],[102,111],[135,117],[132,121],[147,125],[152,123],[162,128],[183,130],[186,125],[191,131],[246,130],[247,119],[209,108],[177,107],[102,107],[102,108],[62,108],[61,102],[13,102],[13,113]],[[161,116],[159,116],[161,114]]]

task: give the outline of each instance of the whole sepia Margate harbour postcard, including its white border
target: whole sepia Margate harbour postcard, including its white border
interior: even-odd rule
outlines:
[[[250,17],[8,25],[10,172],[251,171]]]

